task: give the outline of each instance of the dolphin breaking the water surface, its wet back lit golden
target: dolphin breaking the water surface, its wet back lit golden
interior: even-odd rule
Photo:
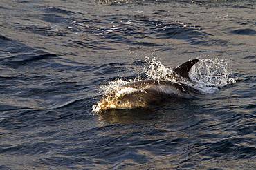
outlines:
[[[194,82],[189,77],[191,67],[199,59],[192,59],[174,70],[176,77],[185,82],[167,80],[143,80],[128,83],[104,94],[94,111],[100,113],[108,109],[136,109],[148,105],[158,105],[172,100],[172,98],[195,99],[201,92],[194,88]]]

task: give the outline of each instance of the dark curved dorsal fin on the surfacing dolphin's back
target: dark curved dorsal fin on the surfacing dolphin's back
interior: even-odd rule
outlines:
[[[187,61],[187,62],[183,63],[182,65],[180,65],[179,67],[177,67],[174,70],[174,72],[176,72],[180,76],[187,78],[189,81],[191,81],[190,77],[188,76],[188,73],[190,72],[191,67],[198,61],[199,61],[199,59],[193,59],[193,60]]]

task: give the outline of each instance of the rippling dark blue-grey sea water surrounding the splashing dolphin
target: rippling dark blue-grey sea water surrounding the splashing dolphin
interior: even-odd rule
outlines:
[[[0,2],[0,169],[256,169],[255,1]],[[199,100],[93,112],[145,57],[225,59]]]

